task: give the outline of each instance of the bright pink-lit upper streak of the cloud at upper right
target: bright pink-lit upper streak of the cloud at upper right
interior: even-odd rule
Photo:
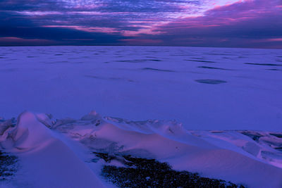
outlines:
[[[281,8],[277,7],[278,1],[238,1],[235,4],[227,4],[225,6],[216,6],[204,15],[198,17],[188,17],[175,20],[168,23],[166,28],[191,28],[191,27],[217,27],[220,25],[232,25],[245,20],[253,20],[255,18],[281,14]]]

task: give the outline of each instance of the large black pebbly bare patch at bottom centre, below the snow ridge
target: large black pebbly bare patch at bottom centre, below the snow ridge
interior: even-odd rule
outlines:
[[[104,157],[104,155],[102,155]],[[155,159],[123,156],[125,167],[104,165],[101,175],[118,187],[244,187],[224,180],[176,171]]]

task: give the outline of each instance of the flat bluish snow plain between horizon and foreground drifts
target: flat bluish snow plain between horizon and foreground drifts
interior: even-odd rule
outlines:
[[[282,50],[0,47],[0,117],[176,119],[190,130],[282,131]],[[264,153],[268,156],[268,153]]]

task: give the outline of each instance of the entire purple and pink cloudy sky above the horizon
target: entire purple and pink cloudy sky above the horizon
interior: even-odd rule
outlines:
[[[282,0],[0,0],[0,46],[282,49]]]

